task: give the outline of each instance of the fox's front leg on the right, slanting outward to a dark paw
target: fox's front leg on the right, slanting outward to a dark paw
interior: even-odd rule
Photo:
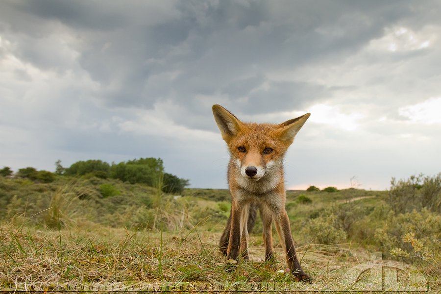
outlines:
[[[311,283],[312,278],[302,270],[300,262],[297,259],[293,236],[291,235],[290,220],[288,219],[288,214],[285,209],[283,209],[283,211],[280,213],[280,217],[274,218],[274,222],[277,233],[279,233],[280,242],[285,250],[286,262],[289,269],[298,281]]]

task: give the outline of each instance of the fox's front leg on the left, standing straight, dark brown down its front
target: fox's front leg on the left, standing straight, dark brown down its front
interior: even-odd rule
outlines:
[[[247,217],[247,209],[244,205],[238,205],[238,203],[233,199],[231,203],[231,230],[230,230],[230,239],[228,243],[227,249],[227,260],[234,259],[237,260],[241,253],[241,245],[242,248],[247,246],[247,236],[243,244],[241,244],[241,236],[244,232],[244,226],[246,224]],[[247,234],[247,232],[246,232]],[[244,252],[245,253],[245,252]]]

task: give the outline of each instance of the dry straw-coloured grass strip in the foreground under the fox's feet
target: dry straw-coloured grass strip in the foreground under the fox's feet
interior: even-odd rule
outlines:
[[[95,223],[58,230],[2,225],[0,287],[55,292],[344,291],[349,290],[342,281],[344,273],[369,260],[365,250],[351,244],[299,247],[302,266],[314,278],[314,284],[307,285],[285,272],[279,245],[276,262],[262,262],[264,248],[257,236],[251,238],[251,261],[225,270],[218,238],[219,233],[208,232],[203,224],[174,233],[127,231]]]

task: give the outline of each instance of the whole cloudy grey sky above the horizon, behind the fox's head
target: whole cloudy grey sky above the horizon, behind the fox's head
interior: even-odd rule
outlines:
[[[440,15],[440,0],[2,0],[0,168],[161,157],[226,188],[218,103],[244,121],[311,112],[291,189],[436,174]]]

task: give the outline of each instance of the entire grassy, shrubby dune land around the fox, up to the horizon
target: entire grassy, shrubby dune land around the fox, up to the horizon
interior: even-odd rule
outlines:
[[[88,173],[53,173],[44,182],[30,179],[33,172],[0,176],[0,287],[7,291],[346,291],[342,277],[371,262],[370,252],[417,267],[430,290],[441,290],[440,175],[392,180],[389,191],[287,191],[298,256],[315,280],[305,285],[287,272],[276,230],[275,261],[264,262],[260,219],[249,236],[250,261],[225,270],[217,242],[230,214],[228,190],[187,188],[176,197],[164,189],[165,175],[151,187]]]

